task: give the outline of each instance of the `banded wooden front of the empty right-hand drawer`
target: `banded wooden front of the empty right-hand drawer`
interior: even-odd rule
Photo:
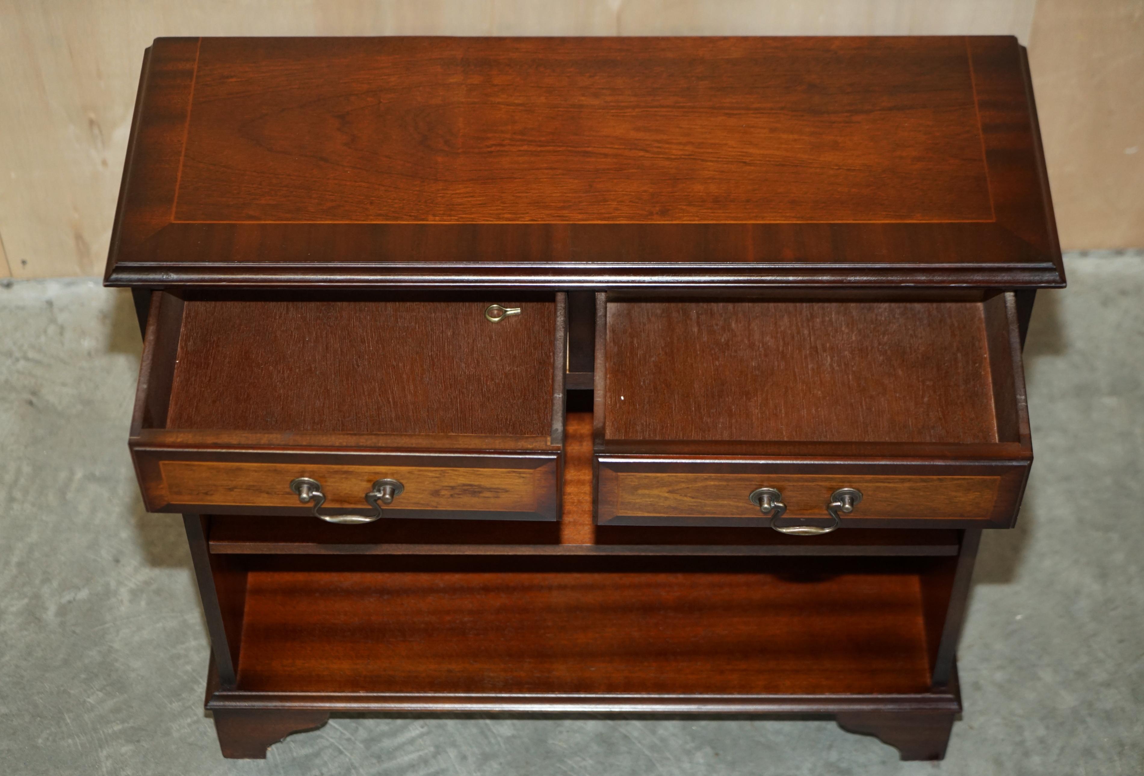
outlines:
[[[853,513],[842,515],[843,527],[1012,527],[1031,450],[1012,446],[1008,456],[992,461],[958,455],[934,459],[908,445],[899,447],[892,457],[848,457],[836,451],[817,457],[597,453],[596,520],[636,526],[766,525],[749,502],[739,499],[755,488],[778,487],[792,496],[785,498],[789,517],[826,526],[833,522],[826,514],[826,496],[836,488],[858,487],[876,491],[877,498],[873,505],[864,499]],[[636,514],[621,509],[628,496]]]

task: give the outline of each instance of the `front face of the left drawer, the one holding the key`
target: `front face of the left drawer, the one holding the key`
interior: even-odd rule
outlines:
[[[309,478],[320,483],[326,496],[323,514],[368,514],[372,507],[365,494],[376,480],[391,479],[404,489],[383,507],[383,517],[559,519],[558,454],[428,456],[430,462],[410,465],[411,456],[374,455],[360,463],[318,463],[313,455],[252,461],[238,455],[219,459],[135,453],[146,507],[152,512],[309,514],[311,506],[300,503],[291,490],[295,478]]]

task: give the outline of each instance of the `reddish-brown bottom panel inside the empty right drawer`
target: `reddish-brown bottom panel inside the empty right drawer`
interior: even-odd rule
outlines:
[[[610,302],[606,437],[995,442],[980,303]]]

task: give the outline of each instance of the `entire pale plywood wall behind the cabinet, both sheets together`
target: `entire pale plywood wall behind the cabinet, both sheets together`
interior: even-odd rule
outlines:
[[[1144,154],[1125,151],[1144,144],[1142,8],[1139,0],[0,0],[0,277],[102,273],[143,49],[165,35],[978,33],[1028,43],[1032,32],[1062,241],[1144,245]]]

